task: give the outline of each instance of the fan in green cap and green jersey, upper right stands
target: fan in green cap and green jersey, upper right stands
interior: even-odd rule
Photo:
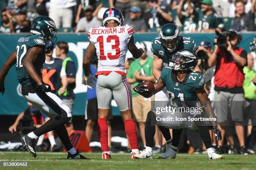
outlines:
[[[212,9],[212,0],[202,0],[201,3],[201,10],[197,8],[193,11],[198,17],[198,32],[214,32],[217,28],[222,29],[224,25]]]

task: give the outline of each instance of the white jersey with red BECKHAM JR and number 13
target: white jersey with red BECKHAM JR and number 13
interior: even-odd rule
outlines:
[[[98,72],[125,70],[125,55],[128,42],[134,31],[129,25],[118,27],[96,27],[88,31],[88,39],[96,48]]]

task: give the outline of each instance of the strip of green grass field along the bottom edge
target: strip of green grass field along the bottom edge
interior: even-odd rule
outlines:
[[[102,160],[101,153],[83,153],[89,160],[67,160],[67,153],[0,152],[0,170],[19,169],[4,167],[3,163],[23,163],[30,170],[256,170],[256,155],[224,155],[222,160],[209,160],[206,154],[177,154],[174,160],[131,160],[130,154],[111,154],[111,160]]]

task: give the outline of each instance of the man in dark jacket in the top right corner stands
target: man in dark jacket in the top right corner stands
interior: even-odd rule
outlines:
[[[254,10],[255,2],[253,0],[253,5],[251,5],[251,11],[245,13],[245,6],[242,0],[237,0],[235,2],[236,14],[233,22],[233,28],[237,31],[255,31],[256,27],[254,24]]]

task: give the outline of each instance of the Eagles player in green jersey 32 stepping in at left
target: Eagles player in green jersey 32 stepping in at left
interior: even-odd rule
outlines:
[[[16,50],[8,57],[0,71],[0,92],[5,92],[5,77],[16,64],[16,75],[23,97],[51,118],[40,128],[22,136],[22,143],[36,158],[36,139],[55,130],[68,151],[67,159],[86,159],[75,150],[64,126],[72,117],[69,107],[51,93],[51,86],[42,80],[41,69],[45,62],[46,44],[50,41],[53,44],[56,42],[56,32],[54,21],[47,16],[39,16],[32,21],[31,34],[18,40]]]

